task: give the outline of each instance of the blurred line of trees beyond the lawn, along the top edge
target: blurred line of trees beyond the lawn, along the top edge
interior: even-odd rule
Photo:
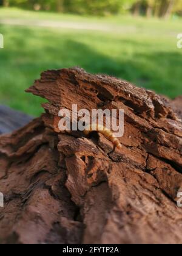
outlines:
[[[182,0],[0,0],[4,6],[34,10],[53,10],[89,15],[110,15],[132,12],[133,15],[169,18],[182,15]]]

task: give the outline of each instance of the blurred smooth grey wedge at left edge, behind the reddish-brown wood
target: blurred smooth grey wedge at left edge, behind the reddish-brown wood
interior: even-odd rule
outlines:
[[[19,129],[32,120],[32,116],[25,115],[12,108],[0,105],[0,134]]]

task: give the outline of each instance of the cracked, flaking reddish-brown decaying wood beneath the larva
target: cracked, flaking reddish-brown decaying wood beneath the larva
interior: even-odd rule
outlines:
[[[182,243],[174,102],[78,68],[46,71],[27,91],[48,102],[40,118],[1,136],[1,243]],[[72,104],[124,109],[122,148],[100,133],[58,133],[58,111]]]

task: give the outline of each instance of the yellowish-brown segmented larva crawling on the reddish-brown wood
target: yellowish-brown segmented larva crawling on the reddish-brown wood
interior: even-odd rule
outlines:
[[[88,125],[88,126],[86,126],[86,129],[84,130],[84,135],[88,136],[90,132],[100,132],[104,135],[104,137],[106,137],[110,141],[112,141],[114,149],[122,148],[120,141],[115,137],[113,132],[111,130],[107,129],[105,126],[101,126],[99,124],[94,124],[91,126]]]

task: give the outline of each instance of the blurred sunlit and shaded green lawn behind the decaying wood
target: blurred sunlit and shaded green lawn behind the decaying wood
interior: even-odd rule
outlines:
[[[2,25],[1,19],[64,21],[109,27],[107,31]],[[0,104],[30,115],[42,112],[42,99],[24,93],[45,69],[81,66],[106,73],[174,98],[181,93],[181,20],[80,17],[0,9]]]

